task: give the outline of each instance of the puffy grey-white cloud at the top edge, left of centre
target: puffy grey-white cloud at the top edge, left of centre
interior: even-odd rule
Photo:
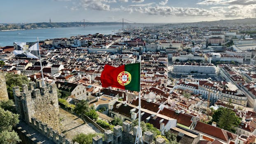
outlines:
[[[110,5],[107,5],[106,0],[80,0],[80,6],[84,9],[93,9],[99,11],[109,11]]]

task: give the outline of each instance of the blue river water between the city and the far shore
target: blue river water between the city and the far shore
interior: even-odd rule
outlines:
[[[133,25],[141,26],[141,25]],[[127,28],[128,26],[124,26]],[[95,33],[112,34],[122,29],[122,25],[98,25],[70,28],[44,28],[33,30],[0,31],[0,46],[12,46],[14,42],[36,42],[39,40],[88,35]]]

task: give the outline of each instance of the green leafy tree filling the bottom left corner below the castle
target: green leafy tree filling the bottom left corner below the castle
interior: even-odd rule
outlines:
[[[12,128],[19,123],[19,114],[13,114],[0,107],[0,144],[20,142],[18,134]]]

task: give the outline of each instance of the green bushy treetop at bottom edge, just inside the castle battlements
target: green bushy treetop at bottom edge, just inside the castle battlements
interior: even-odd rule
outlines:
[[[99,134],[99,133],[89,133],[89,134],[80,133],[80,134],[76,135],[72,139],[72,141],[78,142],[79,144],[91,144],[91,143],[93,143],[93,137],[95,137],[97,135],[102,135],[102,137],[104,136],[103,134]]]

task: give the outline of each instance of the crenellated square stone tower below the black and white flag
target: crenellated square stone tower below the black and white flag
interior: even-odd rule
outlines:
[[[31,123],[31,118],[46,123],[53,130],[60,132],[58,94],[56,84],[42,86],[42,81],[23,84],[22,91],[14,87],[14,101],[20,118]]]

